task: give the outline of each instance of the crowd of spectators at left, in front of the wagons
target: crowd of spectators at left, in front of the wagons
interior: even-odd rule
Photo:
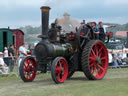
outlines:
[[[15,74],[13,72],[15,64],[20,66],[21,58],[31,53],[28,49],[27,43],[23,43],[19,49],[16,49],[13,44],[9,48],[5,47],[4,52],[0,52],[0,74],[2,76]]]

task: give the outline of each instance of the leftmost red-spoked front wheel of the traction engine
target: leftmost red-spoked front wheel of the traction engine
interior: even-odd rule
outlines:
[[[33,57],[24,58],[19,67],[20,77],[24,82],[32,82],[37,73],[37,64]]]

